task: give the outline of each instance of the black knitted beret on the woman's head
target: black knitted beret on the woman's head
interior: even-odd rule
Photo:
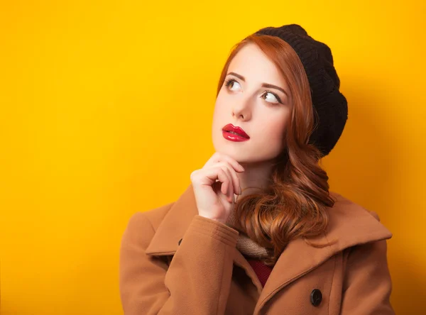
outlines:
[[[255,35],[272,35],[288,43],[297,53],[310,83],[312,104],[316,111],[317,128],[309,143],[320,149],[323,156],[336,145],[348,118],[346,98],[339,92],[340,80],[334,69],[332,51],[314,40],[297,24],[261,28]]]

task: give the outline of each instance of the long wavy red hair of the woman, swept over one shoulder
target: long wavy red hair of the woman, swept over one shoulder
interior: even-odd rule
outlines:
[[[236,202],[236,229],[267,248],[275,265],[285,246],[295,238],[318,236],[327,228],[327,207],[334,205],[329,195],[327,172],[318,164],[322,154],[308,144],[315,129],[310,84],[295,50],[278,37],[249,35],[237,43],[226,60],[217,87],[219,94],[231,60],[248,43],[254,43],[274,62],[288,82],[293,109],[288,121],[284,150],[276,159],[271,184],[258,194]],[[312,244],[311,244],[312,245]]]

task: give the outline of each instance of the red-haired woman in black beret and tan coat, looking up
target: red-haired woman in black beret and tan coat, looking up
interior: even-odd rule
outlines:
[[[124,232],[124,314],[394,314],[378,216],[329,192],[318,165],[342,134],[332,53],[295,24],[231,52],[216,152],[171,204]]]

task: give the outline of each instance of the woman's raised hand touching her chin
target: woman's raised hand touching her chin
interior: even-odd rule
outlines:
[[[214,153],[200,170],[191,173],[198,214],[225,223],[234,209],[234,194],[241,194],[239,177],[244,172],[239,162]]]

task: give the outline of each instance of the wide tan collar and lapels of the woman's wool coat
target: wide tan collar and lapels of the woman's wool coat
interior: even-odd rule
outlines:
[[[366,211],[359,204],[337,192],[330,192],[330,195],[334,198],[335,204],[329,208],[327,231],[321,236],[311,238],[310,242],[318,244],[334,240],[336,242],[316,248],[300,238],[291,241],[273,267],[265,287],[261,287],[249,262],[239,253],[239,250],[235,250],[234,263],[246,270],[260,294],[254,314],[258,314],[261,307],[273,297],[275,292],[314,269],[335,253],[354,245],[392,237],[392,233],[378,221],[376,214]],[[173,255],[178,250],[178,242],[190,226],[193,216],[197,214],[195,195],[190,184],[161,221],[146,249],[146,254]]]

